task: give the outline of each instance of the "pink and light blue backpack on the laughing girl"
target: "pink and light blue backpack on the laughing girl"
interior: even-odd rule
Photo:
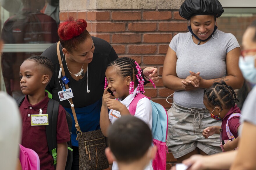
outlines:
[[[136,112],[137,103],[143,97],[147,97],[141,93],[137,94],[137,97],[131,101],[129,105],[129,112],[134,116]],[[147,97],[150,99],[149,97]],[[159,103],[155,103],[150,100],[152,105],[152,137],[153,144],[157,146],[156,157],[152,161],[152,167],[154,170],[166,169],[166,153],[168,153],[167,147],[167,130],[168,130],[168,114],[165,108]]]

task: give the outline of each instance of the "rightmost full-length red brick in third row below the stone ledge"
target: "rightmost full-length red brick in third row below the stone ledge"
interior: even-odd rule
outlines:
[[[170,42],[172,34],[144,34],[143,42],[155,43],[155,42]]]

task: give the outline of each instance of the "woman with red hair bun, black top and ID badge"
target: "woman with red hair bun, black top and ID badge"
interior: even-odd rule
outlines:
[[[91,36],[86,30],[86,26],[87,23],[84,19],[74,20],[69,17],[58,28],[62,65],[65,75],[69,79],[69,88],[72,88],[74,96],[72,101],[82,132],[100,129],[99,117],[106,67],[111,61],[118,58],[113,47],[105,40]],[[62,76],[58,78],[60,65],[56,48],[57,43],[42,53],[42,56],[51,59],[55,71],[47,90],[52,94],[52,99],[59,101],[73,119],[71,130],[72,170],[76,170],[79,169],[77,129],[75,128],[71,104],[67,100],[60,101],[58,95],[58,92],[62,91],[65,85],[61,80]],[[143,74],[154,82],[159,81],[157,68],[147,67],[143,70]]]

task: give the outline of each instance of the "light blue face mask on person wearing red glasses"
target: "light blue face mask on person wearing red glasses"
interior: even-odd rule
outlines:
[[[256,84],[255,56],[242,56],[239,58],[239,68],[243,77],[250,83]]]

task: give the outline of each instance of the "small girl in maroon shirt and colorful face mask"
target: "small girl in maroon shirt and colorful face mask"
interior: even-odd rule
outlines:
[[[211,113],[211,118],[222,121],[221,126],[210,126],[203,130],[208,139],[213,134],[220,134],[222,151],[234,150],[238,146],[238,130],[240,128],[241,110],[235,104],[239,101],[231,86],[224,81],[213,83],[204,90],[204,105]]]

